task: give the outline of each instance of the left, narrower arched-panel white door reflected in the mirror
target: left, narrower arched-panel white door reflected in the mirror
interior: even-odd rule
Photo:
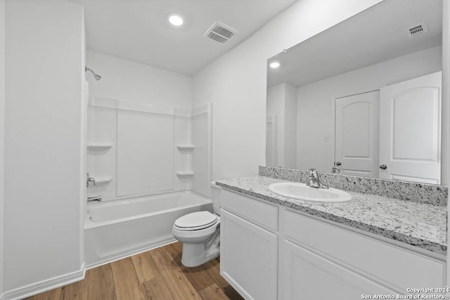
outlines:
[[[335,100],[335,162],[341,174],[378,177],[380,91]]]

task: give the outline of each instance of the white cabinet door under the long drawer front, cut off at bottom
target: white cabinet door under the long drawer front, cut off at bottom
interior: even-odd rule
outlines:
[[[303,247],[284,242],[285,299],[365,299],[363,295],[396,294]],[[368,298],[366,298],[368,299]]]

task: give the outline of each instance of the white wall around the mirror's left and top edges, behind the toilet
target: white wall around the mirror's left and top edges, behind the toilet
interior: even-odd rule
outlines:
[[[214,103],[213,179],[265,164],[266,63],[380,0],[300,0],[194,77],[194,106]]]

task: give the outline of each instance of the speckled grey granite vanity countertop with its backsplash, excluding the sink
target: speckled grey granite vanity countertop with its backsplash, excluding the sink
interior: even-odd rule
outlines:
[[[272,193],[269,190],[271,183],[306,180],[306,171],[277,167],[259,167],[259,176],[217,181],[217,185],[437,254],[446,254],[446,187],[320,175],[324,184],[347,190],[354,200],[324,204]]]

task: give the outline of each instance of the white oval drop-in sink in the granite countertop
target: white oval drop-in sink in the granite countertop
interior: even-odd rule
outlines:
[[[337,188],[311,188],[306,183],[272,183],[269,190],[284,197],[290,197],[314,202],[347,202],[353,199],[352,195]]]

